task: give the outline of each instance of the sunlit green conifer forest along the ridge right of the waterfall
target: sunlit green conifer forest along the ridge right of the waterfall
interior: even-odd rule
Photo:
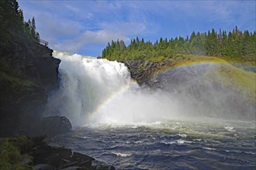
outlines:
[[[231,58],[254,59],[256,56],[256,32],[240,31],[237,26],[232,32],[192,32],[191,36],[175,39],[157,39],[145,42],[144,39],[131,39],[128,46],[117,39],[108,43],[102,50],[102,58],[123,59],[171,59],[181,54],[202,56],[223,56]]]

